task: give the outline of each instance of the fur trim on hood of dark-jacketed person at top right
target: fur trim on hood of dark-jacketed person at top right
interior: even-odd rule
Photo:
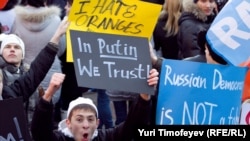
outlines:
[[[183,3],[183,11],[187,14],[192,14],[196,19],[199,19],[203,22],[208,20],[208,16],[203,13],[200,8],[197,6],[196,3],[193,2],[193,0],[185,0]],[[186,14],[184,14],[186,15]],[[214,15],[214,14],[212,14]]]

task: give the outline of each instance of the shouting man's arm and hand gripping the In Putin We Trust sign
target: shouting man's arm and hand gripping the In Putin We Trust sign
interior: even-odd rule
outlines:
[[[158,84],[158,71],[151,69],[148,77],[148,85],[155,87]],[[137,97],[134,104],[130,107],[128,116],[124,123],[118,125],[114,129],[115,136],[114,140],[127,141],[131,140],[135,135],[135,130],[140,125],[146,125],[150,121],[151,112],[151,100],[149,94],[141,93]]]

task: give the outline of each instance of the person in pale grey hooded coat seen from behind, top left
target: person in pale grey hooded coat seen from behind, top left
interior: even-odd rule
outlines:
[[[61,22],[62,11],[57,5],[48,5],[48,0],[26,0],[23,5],[14,8],[15,22],[11,33],[18,35],[25,44],[25,57],[23,62],[30,65],[37,54],[49,42]],[[47,89],[51,75],[54,72],[62,72],[59,57],[65,50],[65,37],[59,42],[57,56],[40,86]],[[61,95],[61,89],[53,97],[53,103],[57,103]],[[32,115],[39,93],[36,92],[29,100],[29,114]]]

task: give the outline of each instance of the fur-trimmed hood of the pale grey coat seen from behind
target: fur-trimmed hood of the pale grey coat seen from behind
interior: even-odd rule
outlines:
[[[58,6],[35,8],[18,5],[14,8],[20,24],[31,31],[40,31],[47,27],[55,16],[61,15]]]

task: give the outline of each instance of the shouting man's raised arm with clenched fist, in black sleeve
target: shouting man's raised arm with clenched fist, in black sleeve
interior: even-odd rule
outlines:
[[[54,73],[51,77],[49,87],[43,97],[39,100],[31,122],[31,133],[35,141],[52,141],[53,134],[53,104],[52,96],[61,87],[65,75]]]

